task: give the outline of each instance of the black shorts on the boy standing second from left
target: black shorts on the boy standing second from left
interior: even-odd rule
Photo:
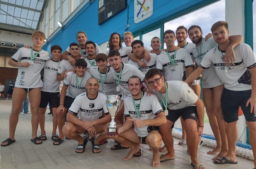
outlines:
[[[40,108],[46,108],[49,102],[50,108],[59,107],[59,92],[52,93],[47,91],[41,91]]]

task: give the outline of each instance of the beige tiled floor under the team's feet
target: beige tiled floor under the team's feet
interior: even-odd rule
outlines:
[[[8,138],[9,130],[9,114],[12,108],[11,100],[0,101],[0,141]],[[47,110],[46,113],[48,113]],[[41,169],[41,168],[61,168],[61,169],[150,169],[152,152],[149,147],[143,145],[142,158],[133,157],[130,161],[123,161],[123,157],[128,153],[128,149],[110,150],[114,144],[113,140],[109,140],[108,144],[101,146],[102,152],[93,154],[92,145],[88,142],[86,151],[82,154],[75,153],[77,142],[74,140],[65,140],[61,145],[54,146],[51,141],[52,132],[52,116],[45,115],[45,127],[47,141],[42,144],[35,145],[31,139],[31,114],[23,114],[19,116],[19,122],[16,128],[16,142],[11,146],[1,147],[0,151],[0,168],[2,169]],[[38,136],[40,133],[38,132]],[[178,139],[174,138],[175,160],[161,163],[160,169],[165,168],[184,168],[192,169],[190,165],[190,156],[187,153],[187,146],[178,145]],[[198,158],[204,167],[209,169],[252,169],[253,161],[237,157],[238,164],[217,165],[211,160],[214,155],[208,155],[206,152],[211,150],[209,147],[202,146],[198,150]],[[163,153],[161,153],[163,154]]]

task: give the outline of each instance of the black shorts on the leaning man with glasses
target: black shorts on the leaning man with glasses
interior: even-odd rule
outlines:
[[[173,126],[171,128],[174,127],[174,123],[180,118],[180,116],[183,118],[184,121],[186,119],[193,119],[193,120],[197,121],[198,120],[197,107],[196,106],[188,106],[188,107],[180,108],[180,109],[176,109],[176,110],[168,109],[168,116],[166,116],[166,118],[167,118],[167,120],[170,120],[173,122]]]

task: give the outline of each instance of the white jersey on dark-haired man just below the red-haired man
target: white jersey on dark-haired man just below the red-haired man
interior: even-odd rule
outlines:
[[[128,61],[128,64],[131,64],[131,65],[136,66],[142,73],[144,73],[144,75],[146,75],[146,73],[147,73],[150,69],[156,68],[156,64],[157,64],[157,55],[154,54],[154,53],[149,53],[149,55],[150,55],[150,61],[149,61],[149,62],[147,62],[147,61],[144,59],[144,57],[140,59],[141,61],[144,61],[144,62],[147,64],[147,66],[144,67],[144,68],[140,67],[137,62],[132,61],[132,60],[129,60],[129,61]]]

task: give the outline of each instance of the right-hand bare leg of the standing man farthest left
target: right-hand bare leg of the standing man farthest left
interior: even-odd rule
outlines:
[[[37,137],[37,129],[39,125],[39,105],[41,101],[41,90],[40,88],[34,88],[29,91],[30,110],[31,110],[31,124],[32,124],[32,139]],[[37,143],[42,142],[38,140]]]

